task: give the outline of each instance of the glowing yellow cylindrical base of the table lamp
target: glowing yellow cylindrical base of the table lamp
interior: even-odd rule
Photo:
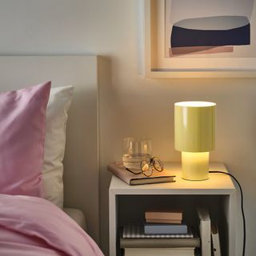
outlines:
[[[182,152],[182,178],[202,181],[209,178],[209,152]]]

